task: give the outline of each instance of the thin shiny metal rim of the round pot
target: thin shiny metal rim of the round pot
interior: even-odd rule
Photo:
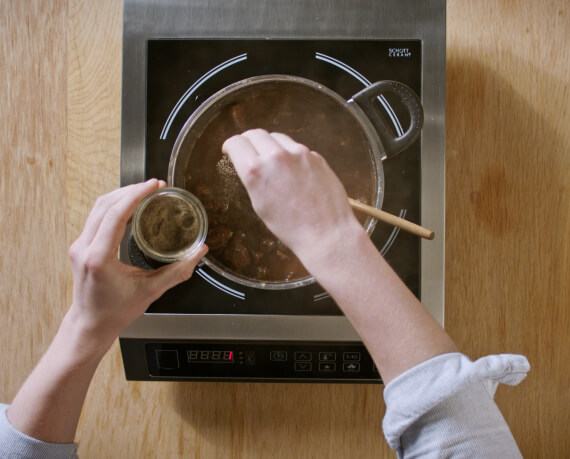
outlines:
[[[356,104],[349,103],[346,99],[340,96],[338,93],[333,91],[332,89],[323,86],[322,84],[309,80],[307,78],[302,78],[293,75],[282,75],[282,74],[268,74],[268,75],[258,75],[254,77],[245,78],[243,80],[237,81],[232,83],[221,90],[217,91],[209,98],[207,98],[188,118],[188,120],[184,123],[184,126],[180,130],[178,137],[174,143],[172,148],[172,153],[170,155],[170,161],[168,164],[168,178],[167,183],[168,186],[179,186],[174,183],[174,176],[177,167],[177,159],[180,153],[182,144],[186,139],[186,136],[197,122],[197,120],[206,113],[213,105],[219,102],[223,97],[246,88],[248,86],[254,86],[263,83],[275,83],[275,82],[291,82],[291,83],[298,83],[303,84],[305,86],[309,86],[313,89],[316,89],[322,92],[324,95],[328,96],[329,98],[335,100],[340,106],[345,108],[351,116],[359,123],[362,127],[373,152],[373,162],[376,167],[376,199],[373,203],[374,207],[381,209],[382,202],[384,199],[384,168],[382,166],[383,158],[386,157],[384,153],[384,146],[380,141],[380,137],[378,136],[376,130],[372,126],[372,123],[368,120],[368,117]],[[366,226],[364,227],[366,233],[371,235],[376,227],[377,220],[375,218],[370,218]],[[307,285],[311,285],[315,283],[315,278],[313,276],[304,277],[302,279],[297,279],[295,281],[261,281],[261,280],[254,280],[249,277],[240,276],[233,272],[229,272],[228,270],[224,269],[220,266],[219,263],[216,261],[210,260],[208,255],[202,259],[203,263],[211,268],[214,272],[220,274],[226,279],[229,279],[233,282],[236,282],[241,285],[245,285],[247,287],[253,287],[258,289],[264,290],[288,290],[293,288],[304,287]]]

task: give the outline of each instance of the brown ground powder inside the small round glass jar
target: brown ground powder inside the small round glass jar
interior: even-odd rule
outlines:
[[[199,230],[195,210],[182,199],[168,195],[151,200],[143,209],[139,224],[148,246],[162,254],[187,249]]]

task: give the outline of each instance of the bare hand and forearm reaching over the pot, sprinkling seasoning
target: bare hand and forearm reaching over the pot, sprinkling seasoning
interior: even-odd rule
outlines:
[[[259,129],[231,137],[222,151],[257,214],[336,300],[384,381],[456,350],[378,253],[322,156],[286,135]]]

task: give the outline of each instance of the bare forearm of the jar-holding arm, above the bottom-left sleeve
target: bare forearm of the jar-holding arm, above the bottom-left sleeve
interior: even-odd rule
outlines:
[[[42,441],[73,442],[91,378],[107,347],[84,339],[71,309],[8,408],[10,423]]]

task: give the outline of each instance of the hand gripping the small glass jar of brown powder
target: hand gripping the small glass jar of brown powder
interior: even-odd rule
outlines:
[[[119,244],[138,203],[165,185],[151,179],[101,196],[69,249],[74,282],[69,313],[88,344],[109,346],[166,290],[190,278],[208,250],[203,246],[194,256],[156,271],[119,261]]]

